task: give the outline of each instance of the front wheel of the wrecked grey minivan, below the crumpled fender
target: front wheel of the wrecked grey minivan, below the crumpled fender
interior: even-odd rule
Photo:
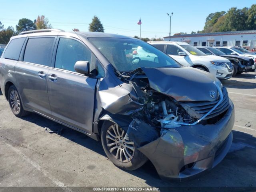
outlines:
[[[101,128],[103,149],[114,165],[124,170],[135,170],[148,160],[117,124],[106,121]]]

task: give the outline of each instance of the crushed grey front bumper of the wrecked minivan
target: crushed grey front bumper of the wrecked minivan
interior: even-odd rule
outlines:
[[[140,148],[154,164],[161,178],[188,178],[216,166],[232,144],[234,105],[213,125],[171,129]]]

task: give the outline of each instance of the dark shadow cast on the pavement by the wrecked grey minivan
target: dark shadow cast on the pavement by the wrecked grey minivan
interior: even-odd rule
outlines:
[[[67,138],[85,148],[93,150],[102,156],[106,156],[101,146],[101,142],[97,142],[88,136],[62,126],[52,120],[48,120],[37,114],[31,114],[22,118],[23,120],[33,122],[42,129],[45,126],[49,128],[63,128],[62,137]],[[256,138],[244,132],[233,131],[234,138],[230,152],[222,162],[215,168],[195,178],[182,181],[166,181],[161,180],[158,176],[153,164],[147,162],[141,168],[128,173],[142,178],[145,183],[150,186],[156,186],[161,191],[168,191],[171,187],[172,191],[200,191],[198,187],[206,187],[206,191],[212,191],[212,187],[256,187]],[[104,163],[104,162],[102,162]],[[241,168],[242,167],[242,168]],[[212,188],[214,189],[214,188]],[[218,188],[217,188],[218,189]],[[221,188],[221,191],[226,191]],[[229,190],[233,190],[229,188]],[[214,191],[219,191],[214,189]],[[236,191],[236,190],[233,190]]]

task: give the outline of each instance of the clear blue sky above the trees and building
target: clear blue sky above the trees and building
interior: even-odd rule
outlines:
[[[255,0],[1,0],[0,21],[15,29],[19,19],[32,21],[38,15],[48,18],[53,28],[88,31],[94,15],[98,16],[107,33],[155,38],[178,32],[202,30],[206,17],[231,7],[244,8]]]

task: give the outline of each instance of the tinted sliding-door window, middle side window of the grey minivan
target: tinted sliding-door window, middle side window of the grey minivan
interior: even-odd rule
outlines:
[[[29,38],[24,52],[24,62],[50,66],[54,37]]]

